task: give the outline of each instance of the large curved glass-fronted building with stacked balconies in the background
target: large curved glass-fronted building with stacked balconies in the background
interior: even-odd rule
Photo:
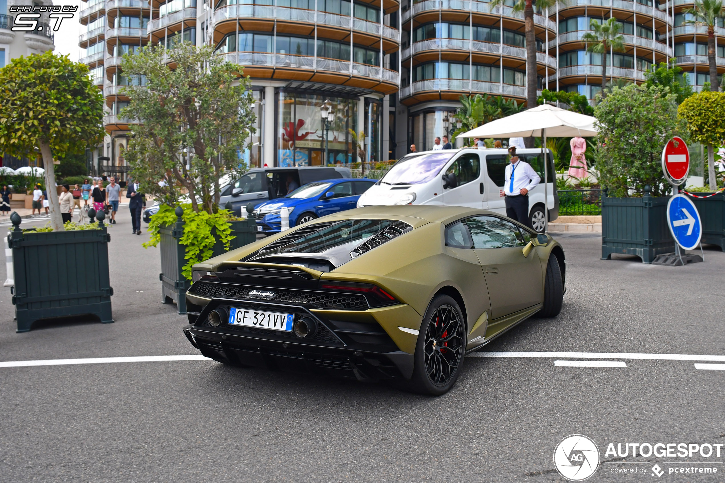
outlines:
[[[83,62],[104,91],[108,133],[98,172],[124,175],[129,80],[121,56],[149,44],[210,45],[252,78],[257,133],[240,152],[250,167],[360,161],[350,130],[365,133],[369,161],[398,159],[450,133],[459,97],[526,98],[526,40],[511,0],[87,0]],[[534,17],[537,89],[594,98],[602,59],[585,51],[591,20],[615,17],[626,46],[608,56],[608,78],[636,82],[676,57],[689,80],[708,71],[706,33],[683,25],[684,0],[568,0]],[[718,35],[725,33],[718,28]],[[718,38],[718,55],[725,40]],[[703,54],[703,45],[705,45]],[[721,64],[720,60],[724,62]],[[725,70],[725,56],[718,56]],[[141,80],[143,82],[143,80]],[[324,155],[320,106],[334,109]],[[449,122],[447,122],[449,121]],[[369,146],[368,143],[369,142]],[[368,159],[365,159],[368,161]]]

